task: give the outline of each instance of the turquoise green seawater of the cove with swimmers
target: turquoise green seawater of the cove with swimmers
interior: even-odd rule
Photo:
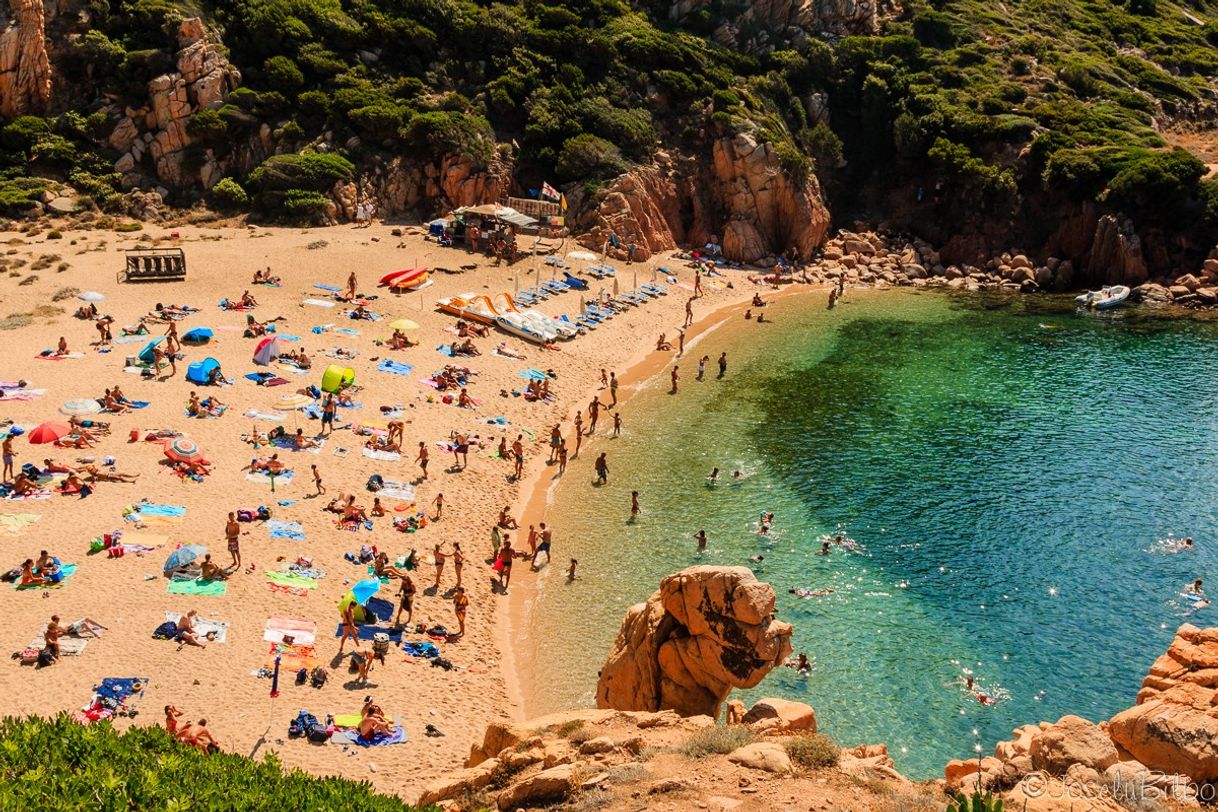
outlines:
[[[682,392],[666,375],[648,386],[624,409],[627,436],[585,444],[557,487],[555,566],[533,576],[523,644],[530,710],[592,704],[625,609],[694,564],[754,567],[815,663],[744,699],[806,701],[822,730],[887,743],[918,778],[1018,724],[1107,718],[1180,622],[1214,620],[1180,590],[1218,558],[1218,326],[904,291],[769,309],[773,324],[687,349]],[[721,349],[727,380],[694,382],[697,358],[714,369]],[[613,476],[592,487],[600,449]],[[827,533],[854,549],[817,555]],[[1164,554],[1172,534],[1200,549]],[[996,704],[959,684],[966,670]]]

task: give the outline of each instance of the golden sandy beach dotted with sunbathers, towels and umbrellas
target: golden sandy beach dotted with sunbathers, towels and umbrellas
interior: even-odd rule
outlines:
[[[177,236],[172,236],[177,234]],[[188,259],[185,282],[118,284],[116,273],[123,265],[122,252],[134,247],[140,237],[157,237],[164,246],[180,246]],[[456,319],[435,310],[435,301],[462,292],[497,293],[512,291],[516,274],[521,287],[537,281],[541,257],[526,258],[515,265],[493,267],[493,259],[475,258],[463,251],[440,248],[423,239],[418,229],[407,229],[403,237],[393,236],[390,225],[368,229],[263,229],[263,228],[162,228],[149,226],[144,235],[121,235],[104,231],[65,231],[62,239],[46,240],[45,235],[28,237],[5,234],[10,262],[26,259],[19,278],[6,280],[4,313],[30,314],[29,324],[5,332],[0,353],[4,354],[4,375],[10,380],[28,381],[26,388],[41,391],[30,399],[4,401],[0,416],[32,429],[49,420],[65,420],[58,408],[67,401],[96,398],[105,388],[122,386],[130,401],[147,402],[143,409],[125,414],[94,415],[94,420],[111,424],[111,433],[95,449],[61,449],[34,446],[27,437],[15,441],[17,465],[41,465],[45,458],[76,465],[74,460],[94,457],[101,461],[114,458],[117,471],[139,475],[134,483],[100,483],[86,499],[52,494],[45,499],[6,500],[0,513],[22,515],[15,520],[30,522],[6,527],[2,543],[9,561],[5,570],[19,566],[27,558],[37,558],[43,549],[58,556],[63,564],[76,564],[77,571],[62,588],[52,590],[15,590],[5,586],[2,605],[10,621],[4,635],[9,651],[24,648],[52,614],[62,622],[90,617],[107,626],[107,631],[77,656],[65,656],[54,666],[35,671],[11,661],[0,677],[0,688],[11,698],[5,713],[54,713],[79,710],[90,698],[91,688],[104,677],[143,677],[149,679],[145,695],[139,701],[138,724],[157,723],[161,709],[174,704],[186,718],[206,717],[208,727],[224,749],[245,755],[262,756],[276,752],[287,766],[302,767],[319,774],[341,773],[367,778],[378,789],[412,797],[430,778],[459,767],[469,745],[481,735],[485,724],[493,719],[520,717],[527,709],[520,706],[520,690],[514,684],[516,671],[527,671],[526,662],[515,667],[504,663],[510,651],[513,634],[519,626],[505,622],[509,616],[523,617],[532,579],[527,561],[515,567],[509,597],[492,592],[495,573],[490,567],[490,528],[505,505],[516,505],[518,514],[531,504],[521,523],[527,526],[544,510],[546,485],[553,476],[544,463],[544,446],[555,421],[564,422],[564,433],[571,431],[569,418],[586,407],[600,382],[600,370],[620,375],[622,391],[659,371],[671,358],[657,354],[657,336],[666,332],[675,338],[683,320],[685,302],[689,297],[693,270],[683,263],[657,261],[666,264],[678,276],[682,286],[670,285],[669,296],[646,306],[631,308],[602,325],[590,335],[560,345],[560,351],[548,352],[521,340],[498,332],[475,340],[481,355],[451,359],[437,352],[441,343],[451,343]],[[49,267],[30,270],[30,264],[46,254],[56,254]],[[46,261],[44,261],[46,262]],[[376,280],[395,269],[417,265],[457,269],[475,263],[476,269],[459,274],[434,274],[434,284],[421,292],[395,296],[376,289]],[[60,263],[68,268],[56,270]],[[283,278],[280,287],[255,286],[252,274],[270,268]],[[624,290],[633,285],[631,268],[619,268]],[[378,321],[351,320],[342,317],[347,309],[341,303],[320,307],[306,299],[326,301],[329,292],[315,285],[342,287],[347,274],[354,271],[362,293],[376,295],[368,309],[380,314]],[[542,279],[548,278],[541,271]],[[37,276],[34,281],[28,281]],[[733,274],[737,281],[743,274]],[[649,268],[638,267],[639,281],[650,279]],[[597,284],[593,281],[593,292]],[[76,289],[74,291],[71,289]],[[303,348],[313,369],[302,375],[279,365],[256,366],[252,353],[256,338],[242,337],[247,313],[222,310],[220,298],[239,298],[248,290],[258,307],[248,314],[258,321],[283,317],[276,323],[280,336],[296,336],[300,341],[281,341],[285,351]],[[750,297],[752,285],[736,290],[706,287],[705,296],[694,303],[699,321],[687,335],[692,343],[695,335],[713,325],[723,307]],[[100,353],[94,346],[97,331],[91,321],[78,320],[72,313],[80,304],[79,291],[97,291],[106,299],[99,304],[102,314],[114,318],[113,334],[119,326],[134,325],[152,310],[156,303],[189,304],[199,313],[179,323],[179,332],[208,326],[216,331],[205,347],[185,347],[185,358],[177,362],[177,375],[144,379],[123,371],[124,359],[135,355],[145,341],[132,341]],[[58,301],[55,301],[58,297]],[[574,314],[579,309],[579,293],[553,297],[541,309],[557,315]],[[333,299],[330,299],[333,302]],[[52,309],[54,308],[54,309]],[[406,351],[387,351],[374,343],[387,338],[389,321],[409,318],[419,330],[410,338],[419,346]],[[27,319],[10,319],[26,321]],[[320,334],[313,327],[334,325]],[[163,332],[163,325],[152,325],[147,338]],[[358,335],[336,332],[353,329]],[[63,337],[73,355],[62,360],[39,359],[44,349],[55,348]],[[523,360],[497,357],[491,349],[499,342],[523,353]],[[688,346],[687,343],[687,346]],[[401,404],[406,424],[403,454],[400,460],[369,459],[362,454],[364,437],[350,429],[335,431],[317,452],[281,450],[280,455],[295,472],[290,482],[280,477],[275,492],[269,483],[246,478],[248,465],[256,455],[253,447],[241,436],[255,430],[266,432],[275,425],[289,431],[298,426],[306,436],[315,436],[318,420],[301,414],[285,413],[279,422],[245,416],[247,411],[274,415],[274,404],[307,385],[320,382],[322,369],[331,359],[324,351],[335,348],[356,351],[354,360],[345,363],[356,373],[362,388],[354,398],[361,408],[340,409],[340,425],[367,424],[384,426],[381,405]],[[235,380],[230,387],[213,390],[196,387],[185,380],[186,366],[203,358],[216,358],[224,374]],[[409,364],[408,375],[389,374],[376,369],[378,362],[391,358]],[[336,362],[342,363],[342,362]],[[420,383],[425,376],[446,363],[469,366],[477,371],[470,394],[479,401],[476,408],[463,409],[440,402],[440,393]],[[691,362],[693,365],[693,362]],[[518,373],[526,368],[552,369],[552,388],[557,397],[551,403],[529,403],[521,397],[501,397],[501,390],[524,390],[525,380]],[[287,383],[261,387],[244,375],[268,370]],[[630,370],[626,373],[626,370]],[[189,393],[216,394],[228,404],[218,419],[194,419],[185,413]],[[608,401],[608,394],[603,397]],[[624,436],[628,438],[631,420],[624,413]],[[507,422],[488,424],[502,418]],[[605,431],[607,415],[602,415],[600,431]],[[143,438],[155,430],[177,430],[194,439],[213,464],[212,474],[202,482],[175,476],[163,463],[161,443],[129,442],[132,432]],[[529,430],[537,443],[526,443],[526,466],[523,482],[512,480],[512,463],[495,458],[493,452],[504,435],[508,442]],[[479,435],[484,448],[471,447],[469,465],[452,469],[453,459],[436,446],[453,430]],[[529,438],[526,432],[526,439]],[[413,482],[418,475],[414,464],[418,443],[428,443],[431,452],[431,476],[419,482],[412,503],[386,500],[390,515],[373,519],[373,530],[348,532],[335,525],[336,516],[324,510],[329,498],[339,492],[356,493],[359,504],[371,506],[373,494],[364,483],[373,474],[386,480]],[[346,449],[346,453],[339,452]],[[272,449],[278,450],[278,449]],[[337,452],[337,453],[336,453]],[[257,454],[264,455],[264,449]],[[571,460],[568,475],[591,471],[593,458],[587,447],[579,459]],[[313,497],[311,465],[317,465],[328,493]],[[536,487],[535,487],[536,486]],[[431,506],[437,493],[445,495],[443,517],[429,522],[414,533],[395,530],[391,516],[410,516],[415,511],[434,515]],[[536,497],[535,494],[542,494]],[[542,500],[538,503],[537,499]],[[152,517],[140,527],[124,521],[124,508],[146,500],[152,504],[185,508],[179,517]],[[286,502],[290,504],[280,504]],[[304,539],[272,538],[263,522],[242,525],[240,537],[242,570],[231,575],[223,595],[180,595],[167,593],[162,564],[179,544],[203,544],[218,564],[230,560],[224,541],[225,516],[238,509],[266,505],[278,521],[297,522]],[[540,505],[540,506],[538,506]],[[401,508],[395,510],[395,508]],[[537,514],[537,515],[535,515]],[[37,516],[37,520],[29,519]],[[153,548],[145,554],[128,554],[121,559],[104,553],[89,555],[91,539],[122,530],[123,542]],[[345,553],[357,553],[361,545],[376,545],[392,559],[412,548],[420,556],[420,569],[414,573],[419,589],[414,622],[443,625],[454,629],[451,589],[454,586],[452,565],[445,567],[438,590],[431,589],[434,566],[430,550],[441,543],[451,551],[453,542],[463,547],[465,567],[463,583],[469,590],[470,609],[468,633],[459,642],[438,642],[443,657],[456,666],[453,671],[431,667],[428,660],[406,656],[400,649],[390,651],[385,665],[378,663],[367,685],[348,674],[347,660],[334,660],[339,649],[335,628],[339,623],[337,601],[351,584],[368,577],[363,565],[343,559]],[[519,548],[524,538],[513,534]],[[554,539],[554,562],[549,572],[565,572],[560,538]],[[325,571],[315,588],[300,589],[301,594],[273,589],[266,573],[281,571],[298,556],[312,559],[313,566]],[[255,566],[252,572],[245,570]],[[543,567],[543,572],[547,567]],[[379,598],[395,600],[396,582],[382,587]],[[152,639],[152,631],[166,620],[166,612],[199,611],[200,617],[228,625],[224,643],[212,643],[205,649],[180,648],[177,643]],[[253,676],[268,662],[270,643],[263,639],[267,620],[286,616],[317,625],[315,657],[330,671],[330,679],[322,689],[297,687],[294,673],[285,672],[281,694],[269,696],[270,681]],[[519,623],[519,620],[518,620]],[[515,631],[514,631],[515,629]],[[407,640],[425,640],[424,635],[407,634]],[[368,645],[368,644],[365,644]],[[350,650],[350,644],[348,644]],[[363,698],[374,695],[386,712],[396,716],[406,728],[409,741],[395,746],[364,749],[331,743],[318,747],[301,740],[289,740],[287,722],[300,710],[318,717],[328,713],[357,713]],[[118,719],[119,726],[132,723]],[[434,724],[442,737],[424,735],[424,726]]]

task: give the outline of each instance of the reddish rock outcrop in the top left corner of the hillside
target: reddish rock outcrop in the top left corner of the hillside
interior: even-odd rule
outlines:
[[[11,22],[0,34],[0,116],[41,113],[51,97],[43,0],[9,0]]]

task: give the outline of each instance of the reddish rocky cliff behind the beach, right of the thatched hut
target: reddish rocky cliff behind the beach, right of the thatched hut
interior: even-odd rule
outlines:
[[[828,224],[816,178],[792,175],[771,144],[741,134],[715,140],[709,163],[660,153],[621,175],[585,207],[579,230],[593,250],[616,235],[636,259],[715,235],[728,259],[772,265],[789,248],[810,257]]]

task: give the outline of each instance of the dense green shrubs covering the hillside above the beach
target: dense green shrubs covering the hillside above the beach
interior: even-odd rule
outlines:
[[[113,121],[89,114],[89,102],[105,91],[144,103],[147,82],[172,68],[177,21],[201,13],[242,88],[191,118],[191,149],[224,156],[267,123],[290,151],[322,146],[342,162],[252,169],[217,190],[224,207],[258,200],[309,217],[324,205],[323,177],[403,153],[513,151],[524,185],[594,186],[660,145],[699,153],[752,130],[788,173],[816,170],[839,206],[876,217],[893,189],[934,183],[951,200],[928,219],[1017,215],[1047,191],[1135,217],[1218,222],[1203,164],[1155,128],[1156,117],[1213,114],[1202,100],[1218,73],[1216,0],[911,0],[878,35],[767,54],[713,43],[716,2],[681,24],[667,7],[93,0],[88,30],[55,57],[76,110],[0,130],[0,207],[29,200],[5,183],[29,167],[112,200],[117,156],[99,139]]]

